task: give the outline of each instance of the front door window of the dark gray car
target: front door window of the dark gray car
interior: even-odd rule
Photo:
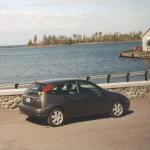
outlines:
[[[96,86],[92,85],[91,83],[80,81],[79,86],[80,86],[80,93],[82,94],[86,94],[86,93],[99,94],[100,93],[100,90]]]

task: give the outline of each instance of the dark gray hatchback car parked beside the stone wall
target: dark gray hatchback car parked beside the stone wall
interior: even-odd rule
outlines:
[[[128,110],[129,100],[96,84],[79,79],[35,82],[24,92],[20,111],[28,117],[47,118],[60,126],[68,117],[109,113],[120,117]]]

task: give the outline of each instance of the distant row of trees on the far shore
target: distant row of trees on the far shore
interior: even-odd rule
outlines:
[[[103,34],[102,32],[96,32],[92,35],[73,34],[72,36],[65,35],[44,35],[43,39],[38,39],[37,35],[34,35],[33,39],[28,41],[28,46],[44,46],[44,45],[59,45],[59,44],[76,44],[76,43],[94,43],[94,42],[119,42],[119,41],[138,41],[141,40],[142,32],[130,32],[130,33],[113,33]]]

